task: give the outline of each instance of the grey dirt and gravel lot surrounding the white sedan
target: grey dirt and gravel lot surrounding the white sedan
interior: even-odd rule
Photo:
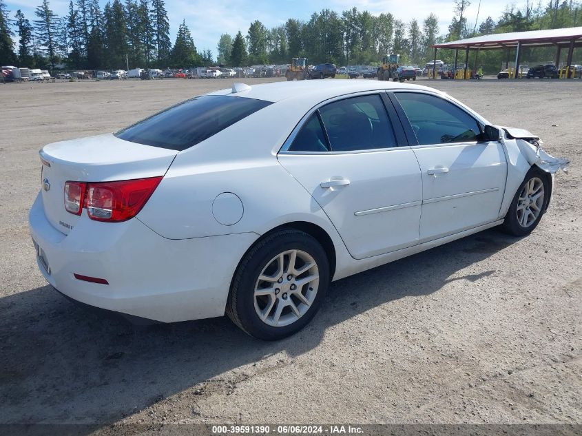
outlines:
[[[88,312],[47,285],[28,234],[43,145],[229,80],[0,85],[0,423],[582,424],[582,81],[419,83],[569,157],[552,207],[528,238],[484,231],[334,282],[280,342]]]

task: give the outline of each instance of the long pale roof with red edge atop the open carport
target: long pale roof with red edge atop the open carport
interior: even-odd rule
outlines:
[[[470,50],[488,50],[494,48],[515,47],[517,43],[528,47],[548,45],[570,45],[582,47],[582,27],[550,30],[530,30],[528,32],[495,33],[481,37],[459,39],[447,43],[434,44],[433,48],[469,48]]]

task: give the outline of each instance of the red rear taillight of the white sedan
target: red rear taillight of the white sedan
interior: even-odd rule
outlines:
[[[122,180],[120,182],[65,183],[65,209],[72,214],[81,215],[87,207],[87,215],[92,220],[120,222],[133,218],[158,187],[162,177]],[[68,193],[74,193],[75,185],[81,185],[79,212],[67,207]],[[68,189],[67,189],[68,186]]]

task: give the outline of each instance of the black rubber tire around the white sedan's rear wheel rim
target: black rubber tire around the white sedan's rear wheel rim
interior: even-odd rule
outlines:
[[[255,285],[258,276],[271,259],[291,249],[304,251],[315,260],[319,270],[317,293],[309,309],[295,322],[287,326],[271,326],[260,320],[256,313]],[[329,287],[329,280],[329,262],[319,242],[303,231],[282,229],[257,242],[242,258],[231,283],[226,313],[242,331],[255,338],[262,340],[286,338],[303,329],[315,316]],[[291,294],[289,295],[291,298]]]

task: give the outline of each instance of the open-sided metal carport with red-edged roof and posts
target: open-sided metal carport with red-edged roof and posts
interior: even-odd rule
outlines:
[[[469,50],[499,50],[516,48],[515,50],[515,68],[519,67],[519,56],[521,49],[524,47],[550,47],[557,48],[556,67],[559,67],[559,59],[562,48],[568,48],[568,71],[572,65],[572,54],[574,48],[582,47],[582,27],[563,28],[550,30],[529,30],[527,32],[495,33],[483,35],[481,37],[459,39],[431,45],[435,49],[433,63],[433,79],[436,78],[437,49],[446,48],[455,50],[455,72],[457,71],[457,58],[459,50],[465,50],[465,69],[464,77],[467,74],[467,64],[469,61]],[[516,72],[514,79],[518,78]]]

